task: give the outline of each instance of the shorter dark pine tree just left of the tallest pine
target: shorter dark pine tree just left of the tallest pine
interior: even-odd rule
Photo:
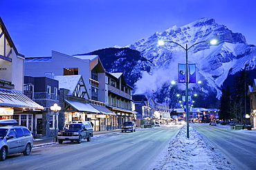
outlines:
[[[222,95],[220,98],[219,118],[222,120],[230,120],[230,87],[227,85],[226,89],[221,89]]]

